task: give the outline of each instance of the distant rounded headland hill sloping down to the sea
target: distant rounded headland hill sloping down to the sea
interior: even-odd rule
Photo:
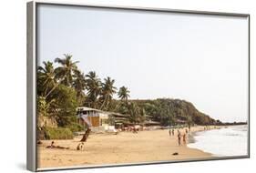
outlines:
[[[200,112],[188,101],[180,99],[159,98],[155,100],[129,100],[138,104],[146,114],[161,125],[168,126],[177,123],[197,125],[220,124],[210,116]]]

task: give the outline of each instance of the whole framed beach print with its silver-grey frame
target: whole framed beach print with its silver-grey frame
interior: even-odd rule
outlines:
[[[27,3],[27,168],[250,157],[250,15]]]

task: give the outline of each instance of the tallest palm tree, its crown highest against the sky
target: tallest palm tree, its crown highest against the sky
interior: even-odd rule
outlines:
[[[60,79],[60,83],[65,86],[71,86],[73,75],[77,71],[78,61],[72,62],[71,55],[64,54],[65,58],[56,58],[55,62],[61,66],[56,67],[56,76]]]

